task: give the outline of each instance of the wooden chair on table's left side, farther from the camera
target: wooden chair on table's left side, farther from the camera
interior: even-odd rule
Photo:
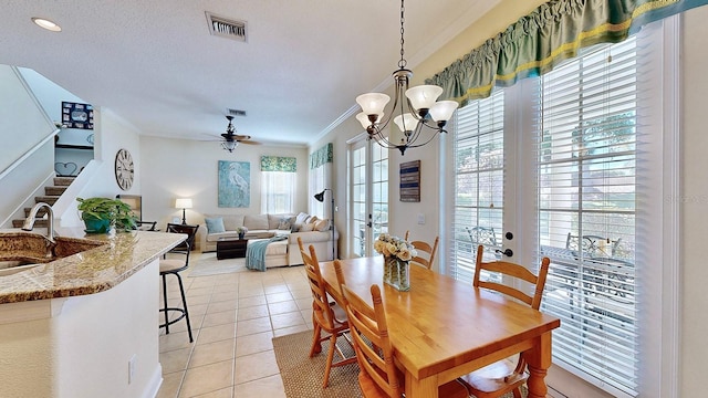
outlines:
[[[302,254],[305,273],[308,274],[308,282],[310,283],[310,290],[312,291],[312,324],[314,326],[314,333],[312,335],[310,357],[312,358],[322,352],[322,342],[330,342],[326,366],[324,369],[324,380],[322,383],[322,388],[326,388],[330,383],[330,371],[332,370],[332,367],[353,364],[356,362],[356,358],[346,357],[340,347],[336,346],[339,337],[344,337],[347,344],[352,345],[352,342],[345,334],[345,332],[348,332],[350,325],[346,321],[346,312],[344,308],[336,304],[336,302],[329,300],[314,247],[311,244],[309,248],[310,253],[306,253],[300,238],[298,238],[298,244],[303,248],[303,250],[300,251],[300,254]],[[324,336],[322,336],[322,331],[325,332]],[[335,352],[341,359],[333,363]]]

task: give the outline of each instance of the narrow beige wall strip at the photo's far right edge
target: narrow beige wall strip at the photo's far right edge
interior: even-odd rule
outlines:
[[[679,269],[681,292],[681,349],[678,369],[681,397],[706,395],[705,374],[708,345],[708,266],[704,245],[708,237],[708,134],[706,132],[706,91],[708,90],[708,7],[684,15],[681,51],[681,228]]]

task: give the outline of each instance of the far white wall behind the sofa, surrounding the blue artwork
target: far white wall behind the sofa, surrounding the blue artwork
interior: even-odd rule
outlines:
[[[258,214],[261,212],[261,156],[295,157],[298,184],[295,211],[308,209],[308,149],[272,145],[239,145],[233,153],[223,150],[218,142],[140,137],[143,181],[143,219],[158,221],[162,229],[174,217],[175,199],[191,198],[194,208],[186,211],[187,223],[204,224],[205,213]],[[219,160],[248,161],[251,165],[251,200],[249,208],[218,207]]]

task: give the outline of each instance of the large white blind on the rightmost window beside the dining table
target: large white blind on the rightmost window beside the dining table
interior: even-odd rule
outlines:
[[[539,251],[542,311],[561,318],[554,363],[615,395],[638,391],[635,256],[636,41],[593,48],[541,77]],[[565,366],[564,366],[565,367]]]

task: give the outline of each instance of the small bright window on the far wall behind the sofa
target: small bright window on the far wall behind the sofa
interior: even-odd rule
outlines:
[[[261,172],[261,212],[292,213],[294,211],[295,172]]]

